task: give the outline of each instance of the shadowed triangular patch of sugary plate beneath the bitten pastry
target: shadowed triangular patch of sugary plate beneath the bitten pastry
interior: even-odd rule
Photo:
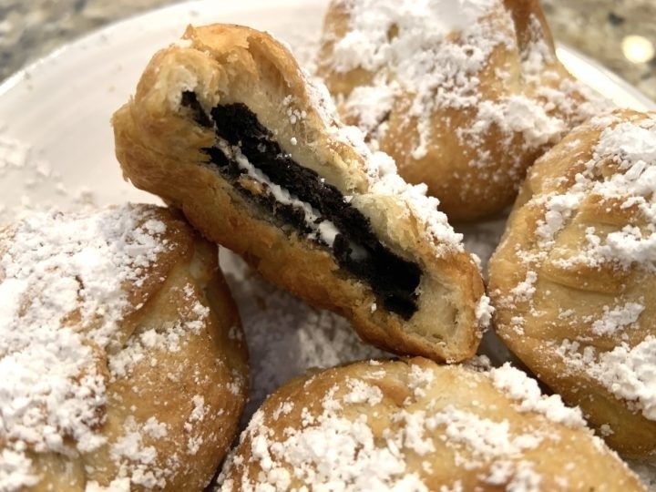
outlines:
[[[221,251],[220,261],[251,352],[244,421],[267,395],[308,369],[391,356],[363,343],[341,316],[316,310],[266,282],[231,251]]]

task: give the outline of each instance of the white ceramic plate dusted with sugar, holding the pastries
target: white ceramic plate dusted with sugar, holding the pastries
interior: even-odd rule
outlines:
[[[302,62],[312,60],[327,0],[206,0],[173,5],[108,26],[65,46],[0,86],[0,221],[27,206],[80,207],[80,202],[157,201],[121,179],[111,114],[133,92],[155,51],[188,24],[227,22],[287,41]],[[568,47],[559,56],[579,79],[618,105],[656,105],[619,77]],[[467,231],[484,258],[503,219]],[[227,261],[226,261],[227,260]],[[381,354],[360,343],[343,319],[308,308],[223,255],[251,351],[250,415],[279,384],[310,366],[330,366]],[[249,276],[244,281],[243,276]],[[488,335],[489,336],[489,335]],[[494,340],[487,354],[507,354]]]

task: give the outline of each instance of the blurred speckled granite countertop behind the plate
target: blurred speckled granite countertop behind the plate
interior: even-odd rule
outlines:
[[[220,1],[220,0],[216,0]],[[0,80],[68,41],[174,0],[0,0]],[[542,0],[554,37],[656,100],[656,0]]]

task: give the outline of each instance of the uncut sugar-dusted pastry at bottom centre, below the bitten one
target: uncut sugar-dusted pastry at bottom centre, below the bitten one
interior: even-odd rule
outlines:
[[[362,362],[298,377],[220,475],[254,490],[642,490],[578,409],[505,365]]]

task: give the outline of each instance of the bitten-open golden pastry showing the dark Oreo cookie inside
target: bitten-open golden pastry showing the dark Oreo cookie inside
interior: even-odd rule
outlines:
[[[190,27],[115,114],[118,160],[135,186],[365,340],[474,354],[489,308],[462,237],[329,100],[272,36]]]

